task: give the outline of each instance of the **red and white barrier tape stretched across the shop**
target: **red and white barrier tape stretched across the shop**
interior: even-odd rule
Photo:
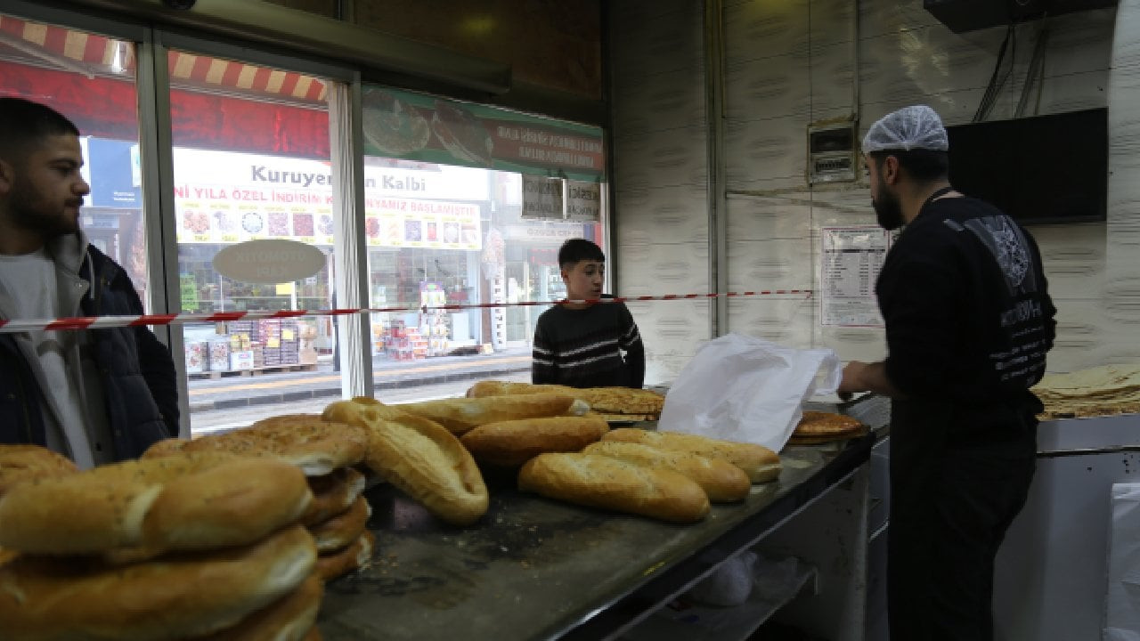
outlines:
[[[757,292],[727,292],[724,294],[663,294],[646,297],[616,297],[589,300],[522,301],[522,302],[474,302],[455,305],[407,305],[400,307],[367,307],[359,309],[286,309],[280,311],[214,311],[210,314],[145,314],[142,316],[76,316],[74,318],[0,318],[0,334],[17,332],[104,330],[108,327],[133,327],[137,325],[182,325],[187,323],[223,323],[255,318],[295,318],[298,316],[349,316],[352,314],[381,314],[388,311],[426,313],[437,309],[484,309],[492,307],[539,307],[565,303],[637,302],[649,300],[693,300],[712,298],[742,298],[762,295],[803,294],[812,295],[812,290],[765,290]]]

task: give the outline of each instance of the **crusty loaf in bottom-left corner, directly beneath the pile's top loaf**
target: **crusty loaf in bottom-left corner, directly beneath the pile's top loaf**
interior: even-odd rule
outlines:
[[[5,641],[210,634],[290,593],[312,574],[316,559],[301,526],[250,546],[131,566],[22,554],[0,567],[0,630]]]

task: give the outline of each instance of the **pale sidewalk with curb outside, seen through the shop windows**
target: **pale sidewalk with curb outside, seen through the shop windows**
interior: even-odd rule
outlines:
[[[495,354],[439,356],[420,360],[373,359],[373,393],[466,380],[520,375],[530,372],[530,348]],[[527,376],[529,380],[529,376]],[[341,374],[331,360],[321,359],[316,371],[267,372],[254,376],[192,379],[188,384],[190,412],[211,412],[271,405],[316,398],[340,397]]]

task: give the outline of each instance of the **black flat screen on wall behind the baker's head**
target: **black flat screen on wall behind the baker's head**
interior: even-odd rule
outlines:
[[[1105,220],[1108,109],[947,127],[950,181],[1026,224]]]

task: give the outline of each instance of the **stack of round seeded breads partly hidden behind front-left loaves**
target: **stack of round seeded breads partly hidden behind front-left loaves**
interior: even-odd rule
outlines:
[[[366,524],[372,508],[361,495],[364,474],[355,469],[368,452],[365,430],[318,414],[284,414],[194,440],[160,441],[144,457],[171,451],[225,452],[298,466],[314,495],[299,521],[316,542],[320,578],[331,581],[370,562],[375,538]]]

